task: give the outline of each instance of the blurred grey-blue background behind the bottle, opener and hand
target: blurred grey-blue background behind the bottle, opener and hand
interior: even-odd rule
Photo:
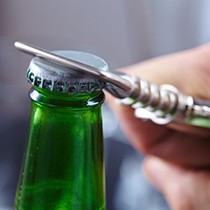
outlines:
[[[30,107],[25,74],[31,57],[18,52],[14,41],[86,51],[117,69],[208,42],[209,20],[208,0],[1,0],[0,210],[13,209]],[[143,156],[106,104],[103,118],[107,210],[168,210],[141,173]]]

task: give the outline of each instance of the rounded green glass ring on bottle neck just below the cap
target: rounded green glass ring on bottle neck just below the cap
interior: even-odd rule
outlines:
[[[29,96],[32,101],[45,106],[90,108],[100,106],[104,102],[104,93],[102,91],[67,94],[33,87],[29,92]]]

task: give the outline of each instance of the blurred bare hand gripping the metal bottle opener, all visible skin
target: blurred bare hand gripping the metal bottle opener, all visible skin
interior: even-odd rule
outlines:
[[[185,94],[210,100],[210,44],[120,71],[157,84],[172,84]],[[209,209],[210,129],[159,126],[137,119],[132,108],[108,93],[107,103],[133,146],[146,155],[145,175],[164,194],[171,209]]]

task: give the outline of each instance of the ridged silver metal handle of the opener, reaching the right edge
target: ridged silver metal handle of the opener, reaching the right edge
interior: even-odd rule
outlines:
[[[156,124],[188,124],[210,127],[209,102],[194,100],[179,92],[172,85],[157,85],[137,77],[133,81],[133,91],[121,100],[135,110],[135,116],[149,119]]]

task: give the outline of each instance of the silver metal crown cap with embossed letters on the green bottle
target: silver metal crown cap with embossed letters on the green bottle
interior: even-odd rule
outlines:
[[[108,71],[107,63],[95,55],[77,51],[55,51],[54,53],[99,70]],[[35,87],[68,94],[98,91],[105,87],[105,82],[98,78],[39,57],[31,60],[27,79]]]

